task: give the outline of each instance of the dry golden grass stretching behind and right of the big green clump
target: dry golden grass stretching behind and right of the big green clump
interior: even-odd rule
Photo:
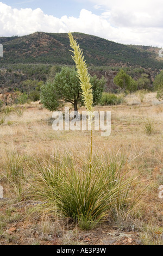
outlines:
[[[93,154],[103,155],[104,150],[108,154],[123,151],[133,175],[142,172],[139,179],[143,182],[134,193],[139,194],[148,185],[143,200],[137,206],[139,219],[141,222],[152,220],[161,227],[163,201],[158,197],[158,187],[163,185],[163,108],[156,105],[155,93],[147,94],[143,103],[135,105],[135,101],[140,100],[133,94],[127,96],[124,105],[95,107],[97,111],[111,111],[111,135],[101,137],[99,132],[93,133]],[[80,108],[79,112],[82,110]],[[52,112],[33,103],[25,106],[21,116],[11,112],[0,125],[0,185],[5,187],[4,197],[17,193],[1,179],[6,175],[7,155],[11,151],[24,156],[25,162],[30,157],[48,159],[57,150],[61,155],[66,150],[74,159],[77,156],[83,160],[87,158],[90,132],[54,131],[51,118]],[[152,136],[147,136],[144,130],[147,118],[154,120]]]

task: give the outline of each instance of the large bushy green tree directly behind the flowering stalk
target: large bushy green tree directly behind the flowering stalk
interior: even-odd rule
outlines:
[[[93,104],[99,103],[104,89],[105,79],[98,80],[90,77],[93,93]],[[61,103],[70,102],[74,111],[78,111],[78,104],[83,105],[82,88],[75,68],[65,66],[55,75],[53,83],[48,81],[41,87],[41,102],[49,110],[56,110]]]

